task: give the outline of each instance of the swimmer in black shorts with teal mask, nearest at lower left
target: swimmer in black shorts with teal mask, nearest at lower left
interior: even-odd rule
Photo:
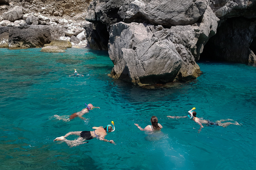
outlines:
[[[86,140],[91,140],[93,138],[98,138],[100,140],[103,140],[105,142],[115,143],[113,140],[107,140],[105,139],[105,136],[107,135],[107,132],[113,132],[115,131],[115,125],[114,122],[111,122],[112,125],[107,125],[105,128],[102,126],[100,127],[92,127],[95,129],[94,131],[71,131],[65,134],[65,136],[56,137],[53,141],[65,141],[66,144],[70,147],[78,146],[84,143],[88,143]],[[66,137],[69,135],[78,135],[79,137],[75,140],[67,140]]]

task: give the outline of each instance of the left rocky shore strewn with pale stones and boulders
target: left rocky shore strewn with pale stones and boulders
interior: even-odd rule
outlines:
[[[0,5],[0,47],[41,48],[56,39],[71,42],[72,47],[89,47],[84,29],[89,24],[84,20],[88,4],[75,14],[76,7],[71,11],[64,7],[57,9],[54,1],[4,2]],[[72,1],[66,2],[70,4]]]

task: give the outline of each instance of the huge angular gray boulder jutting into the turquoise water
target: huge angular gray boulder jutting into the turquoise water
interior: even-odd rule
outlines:
[[[190,31],[194,31],[192,27]],[[196,78],[200,69],[193,55],[177,47],[172,36],[172,31],[162,26],[113,25],[109,39],[112,77],[140,86]]]

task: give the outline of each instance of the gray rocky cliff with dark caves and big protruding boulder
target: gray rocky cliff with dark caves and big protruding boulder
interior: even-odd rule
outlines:
[[[255,0],[93,0],[86,32],[97,33],[87,35],[95,48],[108,46],[113,78],[166,83],[196,78],[209,40],[203,56],[256,63],[255,8]]]

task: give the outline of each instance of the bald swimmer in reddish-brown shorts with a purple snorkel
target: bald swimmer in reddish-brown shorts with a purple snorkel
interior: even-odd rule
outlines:
[[[86,103],[85,103],[86,105]],[[80,112],[73,113],[72,115],[68,116],[59,116],[59,115],[54,115],[54,118],[57,118],[59,120],[63,120],[65,122],[70,121],[71,119],[74,119],[75,117],[79,117],[81,119],[85,119],[82,117],[84,114],[89,113],[89,110],[93,110],[94,108],[99,108],[99,107],[94,107],[92,104],[86,105],[86,108],[81,110]],[[100,109],[100,108],[99,108]]]

